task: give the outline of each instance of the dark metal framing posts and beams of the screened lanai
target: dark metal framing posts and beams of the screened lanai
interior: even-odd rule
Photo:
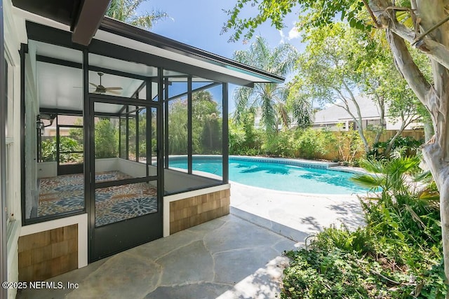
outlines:
[[[1,0],[0,0],[1,1]],[[92,151],[93,144],[94,144],[94,136],[92,134],[93,132],[93,126],[94,126],[94,120],[95,116],[98,116],[98,113],[95,113],[95,116],[89,115],[88,111],[94,111],[93,101],[92,98],[95,98],[95,101],[99,100],[98,102],[108,102],[108,103],[116,103],[116,104],[123,104],[123,102],[126,102],[126,109],[128,109],[128,105],[134,105],[134,106],[146,106],[147,109],[149,107],[156,107],[157,108],[157,128],[159,134],[157,134],[157,149],[156,149],[156,158],[158,160],[157,163],[157,172],[159,175],[159,179],[155,176],[149,176],[148,167],[147,167],[147,175],[145,178],[137,178],[137,179],[129,179],[129,180],[123,180],[119,183],[138,183],[141,181],[149,181],[153,179],[157,179],[157,190],[158,190],[158,198],[161,201],[163,197],[163,170],[164,167],[168,168],[168,102],[171,98],[168,98],[168,77],[163,76],[163,69],[170,69],[171,71],[180,71],[182,73],[188,73],[185,75],[187,78],[187,97],[189,98],[189,108],[188,108],[188,115],[189,115],[189,121],[188,121],[188,134],[189,134],[189,141],[188,141],[188,159],[189,159],[189,170],[188,172],[192,174],[192,155],[193,155],[193,146],[192,146],[192,92],[200,91],[200,90],[206,90],[209,88],[213,88],[217,85],[222,84],[222,159],[223,159],[223,179],[222,181],[218,180],[212,180],[215,181],[215,183],[211,183],[210,186],[217,186],[222,183],[228,182],[228,176],[229,172],[227,169],[227,155],[228,155],[228,148],[227,148],[227,109],[228,109],[228,88],[227,83],[222,82],[233,82],[241,85],[251,85],[248,83],[248,81],[245,81],[243,79],[234,78],[229,75],[225,74],[217,74],[215,71],[210,71],[206,69],[201,69],[199,67],[194,66],[188,66],[187,64],[182,64],[180,62],[173,62],[171,60],[157,57],[155,55],[150,55],[148,53],[142,53],[137,50],[132,50],[129,48],[123,48],[122,46],[118,45],[112,45],[110,43],[106,43],[103,41],[97,41],[94,40],[90,46],[88,47],[82,47],[77,44],[72,43],[70,39],[70,34],[68,32],[62,32],[58,29],[53,29],[49,27],[45,27],[43,25],[36,25],[31,22],[27,22],[27,32],[29,34],[29,39],[33,39],[36,41],[43,41],[46,43],[55,44],[58,46],[64,46],[67,48],[73,48],[76,50],[81,50],[83,55],[83,62],[82,64],[79,63],[72,63],[72,62],[64,62],[62,60],[57,60],[51,57],[43,57],[38,56],[37,60],[42,62],[48,62],[48,63],[55,63],[55,64],[61,64],[65,65],[67,67],[76,67],[79,69],[82,69],[83,71],[83,113],[84,113],[84,122],[83,122],[83,133],[84,133],[84,175],[85,175],[85,181],[84,181],[84,192],[85,192],[85,199],[89,199],[90,202],[84,203],[85,211],[88,212],[89,220],[88,220],[88,248],[89,248],[89,260],[93,260],[93,253],[91,252],[93,248],[93,241],[91,237],[93,236],[93,230],[95,229],[95,200],[92,201],[92,198],[95,197],[95,156]],[[20,51],[21,53],[21,88],[22,88],[22,99],[21,99],[21,121],[22,123],[25,122],[25,51],[27,50],[26,45],[22,45],[22,49]],[[140,75],[135,74],[126,74],[121,71],[113,71],[109,69],[99,68],[95,66],[90,66],[88,63],[88,57],[89,54],[95,54],[95,55],[103,55],[106,57],[113,57],[119,60],[126,60],[131,62],[137,62],[147,65],[148,62],[152,63],[153,67],[157,68],[157,77],[144,77]],[[198,54],[198,53],[196,53]],[[196,55],[195,54],[195,55]],[[207,55],[206,55],[207,56]],[[221,63],[221,62],[220,62]],[[227,61],[223,62],[227,63]],[[107,95],[93,95],[90,94],[88,91],[88,75],[89,71],[103,71],[107,74],[114,74],[117,76],[125,76],[128,78],[136,78],[144,81],[142,85],[140,85],[140,88],[136,90],[135,99],[128,99],[125,97],[113,97],[113,96],[107,96]],[[252,70],[248,70],[248,72],[251,72]],[[265,74],[262,74],[263,72],[260,72],[260,76],[263,77]],[[210,80],[210,84],[201,86],[200,88],[196,88],[193,90],[192,85],[192,76],[195,77],[201,77],[206,78]],[[267,76],[267,78],[272,78]],[[272,78],[273,80],[276,78]],[[158,92],[157,92],[157,101],[153,101],[152,99],[152,82],[158,83]],[[146,100],[138,99],[138,93],[142,90],[142,88],[146,88],[147,90],[147,97]],[[182,95],[177,95],[176,97],[180,97]],[[44,109],[43,109],[44,110]],[[52,111],[52,109],[46,109],[48,111]],[[55,109],[58,110],[58,109]],[[62,111],[59,111],[62,112]],[[82,113],[81,111],[63,111],[67,114],[77,114]],[[121,111],[123,113],[123,111]],[[129,113],[129,109],[128,109]],[[112,113],[104,113],[105,116],[112,116]],[[138,117],[137,117],[138,118]],[[128,123],[128,117],[126,122]],[[120,125],[123,125],[123,123],[119,122]],[[120,129],[123,129],[122,127]],[[126,138],[129,137],[129,125],[126,125]],[[161,134],[163,132],[163,134]],[[152,165],[152,142],[151,142],[151,136],[152,136],[152,110],[149,109],[147,112],[147,137],[149,137],[149,143],[147,144],[147,165]],[[136,132],[136,137],[138,138],[138,132]],[[120,141],[119,141],[120,142]],[[123,140],[121,141],[123,142]],[[21,129],[21,152],[22,152],[22,159],[25,157],[25,130]],[[129,148],[128,148],[129,142],[126,142],[126,153],[124,157],[122,158],[128,158],[129,155]],[[119,144],[119,147],[121,148],[123,144]],[[136,144],[138,146],[138,144]],[[138,155],[136,155],[136,158],[138,159]],[[164,160],[165,159],[165,160]],[[25,189],[25,161],[22,160],[22,189]],[[192,174],[194,175],[194,174]],[[116,183],[116,182],[114,182]],[[109,186],[110,183],[97,183],[98,188],[103,188],[105,186]],[[22,203],[25,203],[25,196],[22,196]],[[159,202],[159,211],[161,212],[161,215],[163,214],[163,206],[162,202]],[[68,215],[75,215],[75,214],[81,214],[83,211],[76,211],[75,213],[67,213],[67,214],[58,214],[54,216],[48,216],[48,217],[39,217],[34,218],[32,220],[27,219],[25,221],[25,204],[22,204],[22,223],[24,225],[31,224],[31,223],[37,223],[41,221],[46,221],[50,219],[55,218],[62,218]],[[162,221],[160,223],[162,225]],[[162,228],[161,232],[162,234]]]

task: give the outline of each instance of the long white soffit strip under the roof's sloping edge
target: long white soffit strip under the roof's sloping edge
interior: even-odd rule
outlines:
[[[236,78],[242,78],[246,81],[251,82],[260,82],[260,83],[269,83],[267,79],[260,78],[260,76],[253,76],[248,74],[248,71],[236,71],[234,67],[220,67],[217,64],[205,62],[203,60],[198,60],[193,57],[188,57],[179,53],[172,52],[170,50],[164,50],[162,48],[158,48],[155,46],[148,45],[147,43],[142,43],[140,41],[135,41],[133,39],[128,39],[123,36],[119,36],[117,34],[112,34],[110,32],[105,32],[102,30],[98,30],[94,36],[94,39],[98,39],[100,41],[106,41],[107,43],[113,43],[119,46],[123,46],[125,48],[130,48],[133,50],[138,50],[140,52],[149,53],[152,55],[156,55],[159,57],[164,57],[169,60],[174,60],[177,62],[182,62],[185,64],[190,64],[195,67],[201,67],[203,69],[209,69],[210,71],[216,71],[220,74],[227,74],[229,76],[233,76]],[[231,69],[232,68],[232,69]]]

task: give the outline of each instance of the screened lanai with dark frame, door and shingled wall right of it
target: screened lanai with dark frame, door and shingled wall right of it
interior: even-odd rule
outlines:
[[[20,50],[27,234],[76,230],[82,265],[229,214],[228,85],[283,78],[108,18],[88,46],[35,19]]]

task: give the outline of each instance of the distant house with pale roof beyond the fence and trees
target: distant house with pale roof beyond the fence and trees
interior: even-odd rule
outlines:
[[[358,97],[357,103],[360,108],[363,129],[380,126],[380,113],[377,105],[368,97]],[[349,102],[349,111],[357,117],[356,106]],[[357,124],[352,116],[340,106],[331,105],[326,109],[317,111],[314,115],[314,129],[326,128],[330,131],[337,130],[357,130]],[[384,117],[384,130],[395,131],[401,128],[401,120],[389,116],[388,107]],[[419,121],[410,123],[405,130],[422,129],[422,123]]]

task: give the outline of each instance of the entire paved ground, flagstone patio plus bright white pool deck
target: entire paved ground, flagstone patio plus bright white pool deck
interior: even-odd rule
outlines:
[[[354,195],[298,195],[232,183],[231,214],[49,281],[18,298],[276,298],[283,251],[333,223],[363,223]],[[68,282],[78,288],[68,288]]]

